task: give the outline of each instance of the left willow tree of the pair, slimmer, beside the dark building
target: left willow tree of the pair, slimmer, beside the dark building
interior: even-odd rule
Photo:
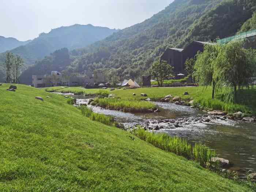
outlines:
[[[215,77],[215,68],[220,45],[206,45],[203,52],[198,52],[194,66],[193,78],[195,82],[202,86],[212,87],[212,99],[215,95],[215,87],[218,78]]]

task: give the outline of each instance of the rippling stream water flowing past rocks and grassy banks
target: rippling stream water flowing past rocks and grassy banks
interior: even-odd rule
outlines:
[[[173,103],[154,102],[159,106],[158,113],[125,113],[93,107],[96,113],[112,115],[118,122],[135,125],[149,120],[166,120],[186,117],[202,117],[206,113],[188,106]],[[204,143],[216,149],[221,158],[228,159],[233,170],[245,173],[256,172],[256,124],[232,120],[213,120],[209,123],[184,125],[172,129],[160,129],[172,136],[187,139],[190,143]]]

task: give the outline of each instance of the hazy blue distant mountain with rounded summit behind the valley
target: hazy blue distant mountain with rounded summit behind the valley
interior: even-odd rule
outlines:
[[[69,50],[86,47],[102,40],[118,30],[93,25],[72,25],[52,29],[49,33],[41,33],[38,38],[23,46],[18,46],[10,52],[20,55],[25,60],[25,67],[44,59],[55,50],[68,48]],[[0,63],[5,61],[5,53],[0,54]],[[0,65],[0,81],[3,79],[3,67]]]

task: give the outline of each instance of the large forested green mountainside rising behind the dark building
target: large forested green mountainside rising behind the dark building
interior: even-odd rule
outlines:
[[[255,0],[175,0],[142,23],[85,49],[74,50],[78,70],[112,68],[113,75],[146,73],[167,47],[234,35],[256,10]]]

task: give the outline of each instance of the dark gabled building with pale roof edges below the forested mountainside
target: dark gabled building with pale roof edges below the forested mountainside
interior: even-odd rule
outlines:
[[[195,57],[198,51],[203,52],[204,45],[215,45],[210,42],[193,41],[185,49],[168,48],[162,54],[161,60],[167,61],[168,64],[174,67],[174,73],[187,75],[185,71],[185,61]]]

